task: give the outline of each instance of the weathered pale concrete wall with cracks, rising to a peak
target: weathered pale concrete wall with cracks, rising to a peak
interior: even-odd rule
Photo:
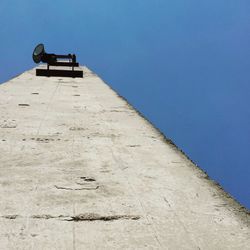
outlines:
[[[0,249],[250,249],[249,215],[84,68],[0,86]]]

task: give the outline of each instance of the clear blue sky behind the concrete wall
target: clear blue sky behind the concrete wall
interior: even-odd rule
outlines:
[[[249,0],[1,0],[0,82],[76,53],[250,208]]]

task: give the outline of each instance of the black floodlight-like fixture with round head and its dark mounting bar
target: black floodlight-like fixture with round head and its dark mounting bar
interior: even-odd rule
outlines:
[[[35,63],[40,63],[40,62],[47,63],[47,70],[36,69],[37,76],[83,77],[83,71],[74,70],[74,67],[79,67],[79,63],[76,62],[75,54],[68,54],[68,55],[48,54],[45,51],[44,45],[40,43],[35,47],[32,54],[32,58]],[[63,60],[59,61],[58,59],[63,59]],[[49,68],[50,66],[72,67],[72,70],[55,70],[55,69],[51,70]]]

